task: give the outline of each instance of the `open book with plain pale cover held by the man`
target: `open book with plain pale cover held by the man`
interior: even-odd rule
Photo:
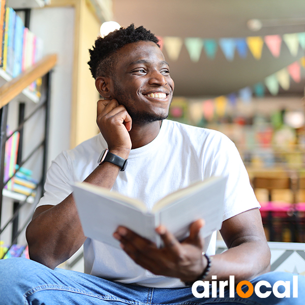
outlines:
[[[196,182],[162,198],[151,210],[140,200],[86,182],[73,186],[73,196],[85,236],[119,248],[112,234],[121,225],[161,247],[155,232],[161,224],[178,240],[188,236],[190,224],[198,219],[205,220],[202,238],[221,228],[226,181],[220,176]]]

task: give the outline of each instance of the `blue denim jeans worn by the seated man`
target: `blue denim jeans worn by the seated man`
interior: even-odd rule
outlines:
[[[270,272],[251,281],[253,286],[258,281],[273,284],[279,280],[290,281],[292,274],[288,272]],[[244,289],[245,288],[245,289]],[[283,289],[282,289],[283,288]],[[242,288],[248,291],[247,286]],[[282,289],[282,290],[281,290]],[[261,287],[261,293],[271,288]],[[255,293],[249,298],[242,298],[236,294],[229,297],[225,290],[224,297],[196,298],[191,287],[187,288],[148,288],[134,285],[120,284],[107,281],[84,273],[56,268],[51,270],[35,261],[24,258],[11,258],[0,261],[0,304],[1,305],[147,305],[147,304],[304,304],[305,277],[298,276],[298,297],[278,298],[273,293],[266,298],[260,298]],[[203,292],[202,287],[197,291]],[[284,286],[278,291],[283,293]]]

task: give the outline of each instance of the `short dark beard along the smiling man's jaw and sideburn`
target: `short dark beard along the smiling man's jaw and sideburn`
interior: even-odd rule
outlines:
[[[124,105],[127,112],[132,118],[132,124],[144,125],[147,123],[152,123],[159,120],[164,120],[168,117],[168,112],[165,114],[148,113],[145,111],[138,111],[133,106],[126,106],[123,102],[124,100],[132,100],[130,95],[126,95],[123,89],[121,89],[117,82],[114,82],[114,94],[115,98],[119,104]],[[123,103],[122,103],[123,102]]]

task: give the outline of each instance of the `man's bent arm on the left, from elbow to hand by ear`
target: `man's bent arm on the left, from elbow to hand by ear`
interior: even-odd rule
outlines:
[[[127,159],[131,149],[128,134],[131,118],[125,107],[115,100],[99,101],[97,123],[110,152]],[[118,172],[118,166],[105,162],[85,181],[111,189]],[[86,239],[72,194],[57,205],[38,207],[26,229],[26,239],[30,258],[52,269],[70,258]]]

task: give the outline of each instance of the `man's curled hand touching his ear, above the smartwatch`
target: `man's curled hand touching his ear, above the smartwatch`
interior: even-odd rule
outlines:
[[[125,151],[125,154],[129,154],[132,143],[128,132],[132,119],[123,105],[119,105],[115,99],[99,100],[97,124],[112,153],[120,155]]]

